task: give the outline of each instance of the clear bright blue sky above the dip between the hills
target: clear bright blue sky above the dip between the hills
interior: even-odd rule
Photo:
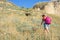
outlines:
[[[9,0],[9,2],[12,2],[17,6],[24,7],[24,8],[31,8],[37,2],[44,2],[44,1],[49,1],[49,0]]]

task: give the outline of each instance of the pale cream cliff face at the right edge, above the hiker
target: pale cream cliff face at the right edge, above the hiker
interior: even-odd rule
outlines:
[[[45,11],[49,14],[60,14],[60,3],[49,2],[48,5],[45,6]]]

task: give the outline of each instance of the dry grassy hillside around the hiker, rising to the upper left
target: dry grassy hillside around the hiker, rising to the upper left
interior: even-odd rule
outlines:
[[[45,40],[41,23],[44,10],[19,8],[10,2],[0,2],[0,40]],[[26,13],[30,13],[26,16]],[[60,40],[60,17],[52,17],[48,39]]]

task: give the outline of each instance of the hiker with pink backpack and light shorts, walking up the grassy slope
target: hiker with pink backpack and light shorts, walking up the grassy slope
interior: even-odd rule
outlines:
[[[45,14],[43,14],[42,15],[41,25],[42,24],[44,26],[45,35],[47,35],[47,33],[49,33],[49,27],[50,27],[50,24],[51,24],[51,18],[49,16],[46,16]]]

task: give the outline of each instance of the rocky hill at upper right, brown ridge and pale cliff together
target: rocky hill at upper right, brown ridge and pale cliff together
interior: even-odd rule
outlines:
[[[48,14],[60,15],[60,1],[37,3],[34,5],[33,9],[35,8],[37,8],[37,10],[44,10],[44,12]]]

